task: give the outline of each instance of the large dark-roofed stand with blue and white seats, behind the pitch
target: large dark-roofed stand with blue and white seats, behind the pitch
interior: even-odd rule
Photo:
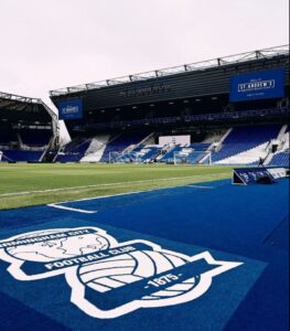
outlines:
[[[289,46],[279,46],[51,90],[76,139],[56,160],[172,163],[180,156],[195,164],[211,153],[214,164],[277,162],[271,154],[282,150],[272,151],[272,140],[290,115],[288,55]],[[284,75],[278,97],[230,99],[232,77],[273,71]],[[82,116],[66,118],[60,105],[75,103]],[[155,140],[142,141],[149,132]],[[191,146],[157,145],[158,137],[178,135],[190,135]],[[79,146],[79,137],[92,137],[89,146]]]

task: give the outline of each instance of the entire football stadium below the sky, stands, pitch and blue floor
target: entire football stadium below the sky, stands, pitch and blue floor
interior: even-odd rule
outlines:
[[[0,330],[289,329],[289,45],[217,56],[0,92]]]

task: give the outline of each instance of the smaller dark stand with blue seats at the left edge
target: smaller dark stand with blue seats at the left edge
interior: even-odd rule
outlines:
[[[41,99],[0,93],[2,161],[50,161],[57,143],[57,117]]]

